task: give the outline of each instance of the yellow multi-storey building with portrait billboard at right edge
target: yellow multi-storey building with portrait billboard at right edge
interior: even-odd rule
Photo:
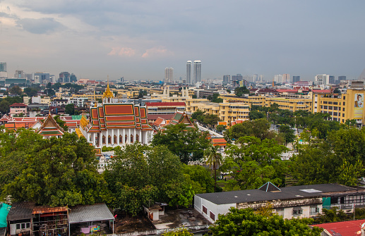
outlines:
[[[331,94],[328,90],[313,92],[313,113],[328,113],[331,120],[345,123],[347,119],[357,120],[365,125],[365,89],[347,89],[346,94]]]

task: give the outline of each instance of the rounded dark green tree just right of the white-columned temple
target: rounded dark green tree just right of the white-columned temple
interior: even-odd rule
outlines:
[[[152,146],[165,145],[179,156],[182,163],[203,159],[203,152],[210,144],[207,132],[201,132],[198,128],[187,129],[182,123],[167,125],[166,128],[153,137]]]

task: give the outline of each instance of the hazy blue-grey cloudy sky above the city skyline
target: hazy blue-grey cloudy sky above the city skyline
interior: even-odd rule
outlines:
[[[289,73],[357,79],[365,68],[365,1],[0,0],[8,77],[61,71],[90,80]]]

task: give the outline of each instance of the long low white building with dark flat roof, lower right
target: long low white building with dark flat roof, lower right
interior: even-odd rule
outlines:
[[[337,184],[278,188],[267,182],[256,190],[214,192],[194,197],[194,208],[212,223],[218,214],[228,213],[231,207],[259,209],[268,204],[284,218],[313,217],[333,206],[351,212],[354,205],[365,206],[365,190]]]

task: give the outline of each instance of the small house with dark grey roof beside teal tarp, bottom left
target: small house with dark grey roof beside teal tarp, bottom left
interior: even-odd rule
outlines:
[[[14,202],[8,213],[8,232],[10,235],[30,235],[34,202]]]

